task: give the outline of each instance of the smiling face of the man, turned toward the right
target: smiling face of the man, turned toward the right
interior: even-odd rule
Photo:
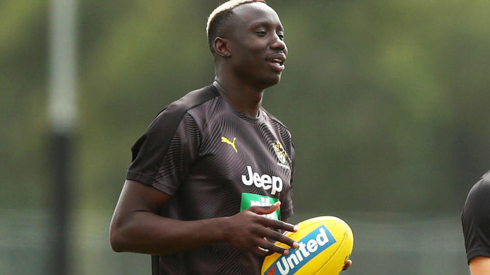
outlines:
[[[263,3],[244,4],[233,13],[229,39],[233,72],[260,89],[276,85],[287,55],[279,16]]]

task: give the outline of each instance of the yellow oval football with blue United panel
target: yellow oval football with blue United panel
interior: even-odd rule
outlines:
[[[354,246],[354,235],[349,225],[338,217],[321,216],[298,224],[298,232],[286,236],[297,241],[297,249],[289,248],[289,254],[267,256],[262,264],[263,275],[337,275],[349,260]]]

